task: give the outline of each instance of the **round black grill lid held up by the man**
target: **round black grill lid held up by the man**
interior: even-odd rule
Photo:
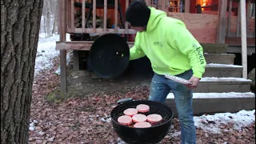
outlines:
[[[129,64],[130,48],[117,34],[97,38],[90,48],[88,66],[101,78],[117,78]]]

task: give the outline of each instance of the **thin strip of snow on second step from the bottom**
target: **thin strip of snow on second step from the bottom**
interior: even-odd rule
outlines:
[[[217,77],[204,77],[201,78],[200,82],[252,82],[250,79],[246,78],[217,78]]]

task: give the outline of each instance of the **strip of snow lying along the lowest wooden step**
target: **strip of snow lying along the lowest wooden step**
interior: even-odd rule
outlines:
[[[193,98],[255,98],[255,94],[251,92],[247,93],[194,93]],[[174,94],[169,93],[167,99],[174,99]]]

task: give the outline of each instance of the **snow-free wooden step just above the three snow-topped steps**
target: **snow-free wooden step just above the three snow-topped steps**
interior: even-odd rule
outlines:
[[[234,65],[234,54],[204,54],[206,63],[221,63]]]

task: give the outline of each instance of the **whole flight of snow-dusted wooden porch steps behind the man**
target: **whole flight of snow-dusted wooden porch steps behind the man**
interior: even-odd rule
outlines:
[[[242,66],[234,65],[234,54],[225,54],[226,46],[210,45],[212,53],[204,53],[206,72],[194,91],[194,115],[255,109],[255,94],[250,92],[251,80],[242,77]],[[206,51],[206,52],[210,52]],[[166,105],[177,117],[174,94],[168,94]]]

